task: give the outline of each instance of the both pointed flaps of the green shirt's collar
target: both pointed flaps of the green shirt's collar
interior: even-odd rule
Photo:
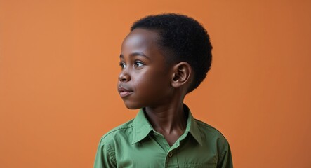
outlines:
[[[199,132],[199,127],[196,120],[192,116],[190,109],[184,104],[184,111],[188,113],[187,127],[185,130],[185,135],[188,132],[194,137],[194,139],[201,145],[202,139]],[[132,144],[136,144],[138,141],[143,140],[147,135],[153,130],[152,125],[147,120],[143,109],[140,109],[133,123],[133,141]]]

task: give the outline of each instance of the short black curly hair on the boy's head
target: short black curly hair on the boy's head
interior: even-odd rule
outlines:
[[[187,92],[192,92],[211,68],[211,41],[206,29],[187,15],[164,13],[148,15],[133,23],[134,29],[148,29],[159,33],[158,45],[164,50],[168,63],[187,62],[194,70],[194,81]]]

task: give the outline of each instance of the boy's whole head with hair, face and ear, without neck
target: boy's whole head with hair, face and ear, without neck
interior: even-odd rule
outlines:
[[[138,20],[122,43],[118,90],[129,109],[183,101],[211,66],[206,30],[185,15]]]

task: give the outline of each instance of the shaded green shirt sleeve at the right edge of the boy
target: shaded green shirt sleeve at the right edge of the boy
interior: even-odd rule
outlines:
[[[223,146],[217,168],[233,168],[231,150],[227,141]]]

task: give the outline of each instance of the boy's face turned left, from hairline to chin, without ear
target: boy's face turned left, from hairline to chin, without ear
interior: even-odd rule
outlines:
[[[158,34],[134,29],[121,48],[118,91],[128,109],[156,107],[169,102],[171,71],[157,45]]]

